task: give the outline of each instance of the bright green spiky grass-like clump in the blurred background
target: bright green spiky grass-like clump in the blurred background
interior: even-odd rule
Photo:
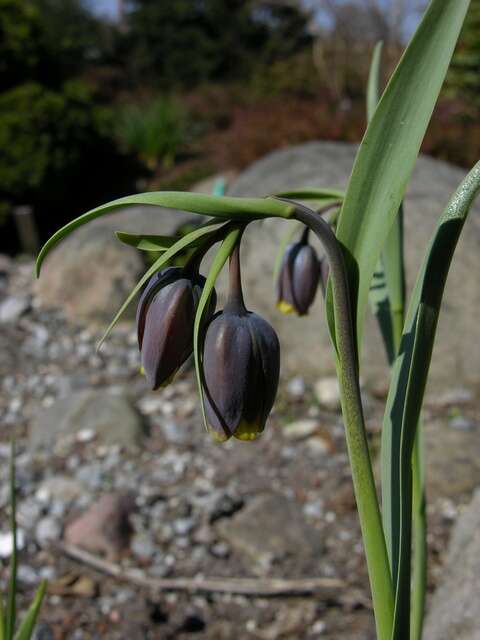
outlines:
[[[159,97],[147,105],[128,105],[120,113],[118,136],[149,169],[158,162],[168,167],[188,140],[187,116],[170,98]]]

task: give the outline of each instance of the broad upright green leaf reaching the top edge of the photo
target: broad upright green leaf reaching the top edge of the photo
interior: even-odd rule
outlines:
[[[338,219],[359,346],[368,290],[400,207],[469,0],[432,0],[359,147]],[[332,296],[327,303],[332,304]]]

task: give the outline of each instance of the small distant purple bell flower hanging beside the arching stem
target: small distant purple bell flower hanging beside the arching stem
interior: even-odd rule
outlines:
[[[289,244],[282,259],[277,280],[277,307],[283,313],[308,313],[318,289],[320,263],[315,249],[308,244],[306,228],[299,242]]]

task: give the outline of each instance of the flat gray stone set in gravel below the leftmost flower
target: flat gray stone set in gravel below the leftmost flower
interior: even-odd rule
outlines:
[[[29,430],[29,446],[52,449],[74,441],[79,432],[93,429],[103,444],[134,449],[143,434],[140,414],[123,396],[106,391],[82,390],[40,409]]]

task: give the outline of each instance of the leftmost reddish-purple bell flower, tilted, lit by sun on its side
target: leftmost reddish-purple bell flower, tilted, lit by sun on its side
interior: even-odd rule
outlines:
[[[152,389],[168,384],[193,351],[193,324],[205,278],[187,268],[154,275],[137,307],[142,368]],[[209,316],[215,310],[212,296]]]

